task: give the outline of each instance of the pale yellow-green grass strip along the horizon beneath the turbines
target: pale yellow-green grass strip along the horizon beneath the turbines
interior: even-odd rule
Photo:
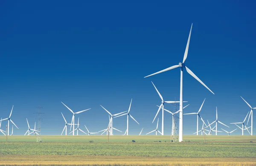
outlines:
[[[8,136],[9,142],[35,142],[37,136]],[[54,136],[54,135],[43,135],[41,136],[43,142],[89,142],[93,140],[93,142],[107,142],[108,137],[107,135],[67,135],[67,136]],[[170,142],[170,136],[162,136],[162,135],[113,135],[109,136],[109,142],[131,142],[135,140],[136,142],[156,142],[161,141],[163,142]],[[204,142],[204,135],[184,135],[183,137],[184,142]],[[253,143],[256,142],[256,136],[250,135],[211,135],[206,136],[206,142],[229,142],[229,143],[249,143],[252,141]],[[0,136],[0,142],[6,142],[5,136]]]

